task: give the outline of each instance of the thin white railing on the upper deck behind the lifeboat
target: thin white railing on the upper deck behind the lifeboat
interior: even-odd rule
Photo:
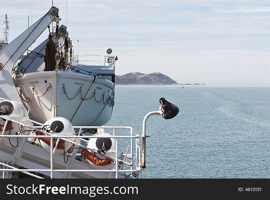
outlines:
[[[73,65],[115,66],[116,56],[79,54],[72,58]]]

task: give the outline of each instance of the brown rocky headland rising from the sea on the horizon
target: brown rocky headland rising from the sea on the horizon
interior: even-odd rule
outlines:
[[[122,76],[116,75],[115,84],[177,84],[177,82],[159,72],[151,74],[131,72]]]

